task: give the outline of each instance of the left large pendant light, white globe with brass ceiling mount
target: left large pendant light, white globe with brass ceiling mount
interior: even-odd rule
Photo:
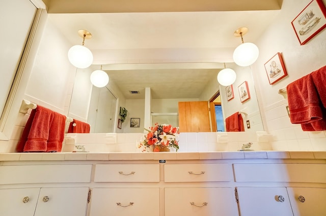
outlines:
[[[78,30],[78,35],[83,38],[83,46],[72,46],[68,51],[68,59],[76,68],[84,69],[90,67],[93,63],[93,53],[89,48],[84,46],[85,39],[92,38],[92,34],[87,30],[80,29]]]

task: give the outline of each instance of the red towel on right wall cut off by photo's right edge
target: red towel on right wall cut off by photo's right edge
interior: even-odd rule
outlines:
[[[326,66],[311,73],[321,104],[326,108]]]

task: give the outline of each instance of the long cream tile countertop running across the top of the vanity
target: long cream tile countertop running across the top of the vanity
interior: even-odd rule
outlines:
[[[0,161],[326,159],[326,151],[0,153]]]

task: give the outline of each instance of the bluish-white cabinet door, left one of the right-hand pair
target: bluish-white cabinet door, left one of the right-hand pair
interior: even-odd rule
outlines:
[[[241,216],[293,216],[286,188],[238,187]]]

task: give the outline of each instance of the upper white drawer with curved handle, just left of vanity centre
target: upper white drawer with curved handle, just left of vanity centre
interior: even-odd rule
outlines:
[[[159,164],[97,164],[95,182],[158,182]]]

